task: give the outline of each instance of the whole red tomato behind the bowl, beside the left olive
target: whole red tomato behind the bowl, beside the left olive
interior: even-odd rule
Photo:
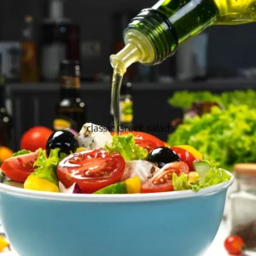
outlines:
[[[22,135],[20,149],[26,149],[32,152],[38,150],[38,148],[45,149],[48,138],[52,133],[52,130],[44,126],[32,127]]]

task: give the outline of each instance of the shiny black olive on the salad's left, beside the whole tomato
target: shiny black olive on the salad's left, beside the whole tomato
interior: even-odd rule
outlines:
[[[55,131],[46,143],[46,152],[49,155],[51,149],[60,148],[60,153],[70,154],[79,148],[79,142],[72,132],[67,130]]]

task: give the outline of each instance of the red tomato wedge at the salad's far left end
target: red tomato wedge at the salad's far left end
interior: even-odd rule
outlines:
[[[3,161],[1,170],[10,179],[24,183],[26,178],[36,169],[33,164],[37,159],[38,152],[10,157]]]

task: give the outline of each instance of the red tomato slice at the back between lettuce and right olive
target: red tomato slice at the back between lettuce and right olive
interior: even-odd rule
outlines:
[[[142,131],[120,131],[120,135],[131,133],[135,137],[135,143],[142,148],[146,148],[148,153],[154,149],[159,147],[165,147],[165,143],[162,142],[159,138],[154,137],[151,134]],[[111,132],[112,135],[116,134],[116,132]]]

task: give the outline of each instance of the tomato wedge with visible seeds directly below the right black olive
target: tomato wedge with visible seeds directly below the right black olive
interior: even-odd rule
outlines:
[[[172,162],[156,172],[147,183],[143,184],[141,193],[157,193],[173,191],[172,173],[180,176],[182,172],[188,174],[189,166],[184,162]]]

